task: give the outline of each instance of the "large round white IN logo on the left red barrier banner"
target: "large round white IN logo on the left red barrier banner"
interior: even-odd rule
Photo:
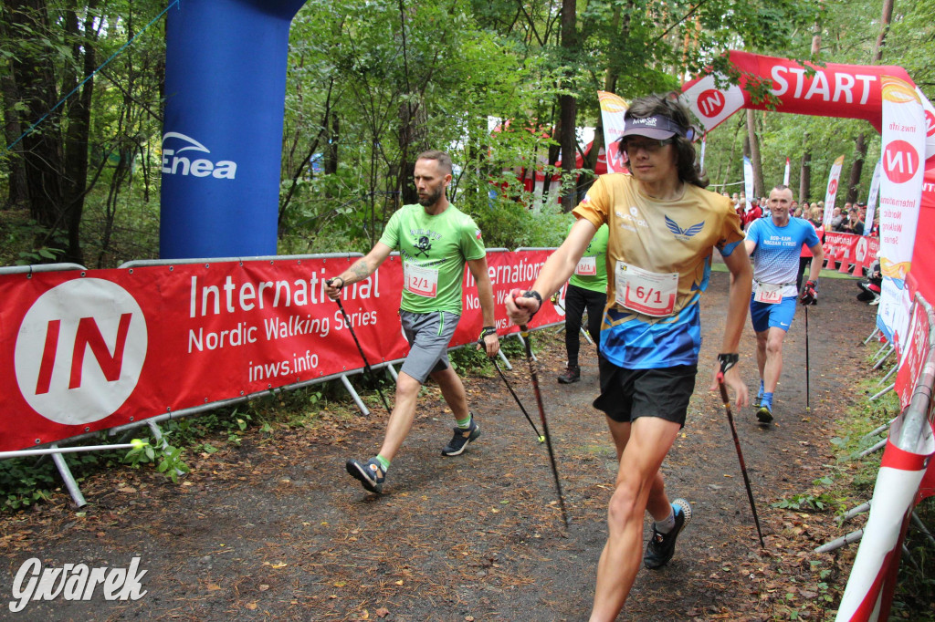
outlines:
[[[16,381],[26,403],[63,425],[109,417],[136,389],[146,320],[126,290],[79,278],[46,291],[16,337]]]

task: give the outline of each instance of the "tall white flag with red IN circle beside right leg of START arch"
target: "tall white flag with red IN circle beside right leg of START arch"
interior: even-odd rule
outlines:
[[[922,100],[912,84],[892,76],[884,76],[882,81],[880,270],[884,279],[877,326],[900,350],[912,306],[906,276],[912,267],[922,202],[927,123]]]

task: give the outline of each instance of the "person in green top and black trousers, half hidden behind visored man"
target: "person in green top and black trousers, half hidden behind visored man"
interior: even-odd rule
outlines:
[[[568,233],[571,227],[568,226]],[[558,376],[563,385],[581,380],[582,371],[578,365],[578,352],[581,349],[582,316],[587,309],[587,332],[597,345],[600,356],[600,321],[604,317],[607,304],[607,225],[597,229],[575,272],[568,279],[565,291],[565,350],[568,353],[568,367]]]

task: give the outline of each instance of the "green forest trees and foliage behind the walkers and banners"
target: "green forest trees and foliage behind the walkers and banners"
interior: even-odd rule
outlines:
[[[158,257],[165,2],[0,7],[0,265]],[[678,89],[744,49],[897,64],[935,99],[933,14],[935,0],[309,0],[290,35],[279,253],[366,251],[415,202],[425,148],[452,153],[451,198],[489,247],[556,245],[594,178],[598,90]],[[582,126],[595,148],[556,166]],[[705,166],[741,191],[749,155],[762,196],[789,158],[797,198],[815,201],[844,155],[838,200],[854,201],[879,152],[866,121],[748,111],[708,136]],[[524,191],[537,162],[561,174],[561,205]]]

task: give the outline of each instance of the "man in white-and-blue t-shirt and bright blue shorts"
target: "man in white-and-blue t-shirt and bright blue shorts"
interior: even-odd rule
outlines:
[[[790,218],[792,191],[776,186],[770,191],[770,218],[755,220],[743,244],[754,258],[754,288],[750,319],[756,332],[756,364],[760,386],[756,418],[772,421],[772,396],[783,371],[783,340],[796,315],[798,256],[804,244],[813,253],[812,270],[802,290],[801,304],[815,304],[818,275],[825,255],[812,223]]]

